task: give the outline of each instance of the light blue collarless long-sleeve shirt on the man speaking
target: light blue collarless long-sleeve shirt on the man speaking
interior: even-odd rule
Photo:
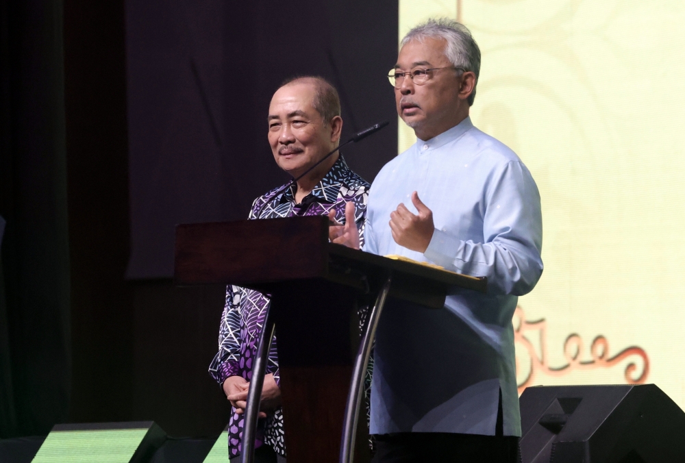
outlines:
[[[397,245],[390,212],[433,212],[425,253]],[[379,322],[371,433],[495,434],[501,391],[505,436],[521,435],[512,316],[543,271],[540,195],[516,154],[470,118],[417,140],[388,162],[369,195],[364,251],[399,254],[488,278],[488,292],[452,288],[445,308],[389,299]]]

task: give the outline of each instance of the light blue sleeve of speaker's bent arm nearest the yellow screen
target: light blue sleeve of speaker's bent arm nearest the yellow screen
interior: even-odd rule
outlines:
[[[543,272],[543,225],[540,194],[522,162],[503,163],[491,173],[483,217],[484,242],[435,229],[425,258],[448,270],[487,277],[489,294],[525,295]]]

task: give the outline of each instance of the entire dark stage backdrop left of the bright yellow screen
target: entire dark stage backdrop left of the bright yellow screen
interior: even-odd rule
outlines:
[[[0,437],[155,420],[216,435],[223,288],[174,288],[173,225],[284,182],[279,82],[331,79],[368,180],[396,153],[397,1],[0,0]],[[125,277],[125,275],[127,277]]]

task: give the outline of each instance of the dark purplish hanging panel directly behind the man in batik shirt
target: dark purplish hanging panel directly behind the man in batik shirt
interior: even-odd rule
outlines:
[[[296,7],[294,5],[297,5]],[[397,154],[397,1],[127,0],[132,256],[129,278],[170,277],[176,223],[247,218],[287,179],[266,142],[271,95],[286,77],[338,87],[345,150],[373,180]]]

